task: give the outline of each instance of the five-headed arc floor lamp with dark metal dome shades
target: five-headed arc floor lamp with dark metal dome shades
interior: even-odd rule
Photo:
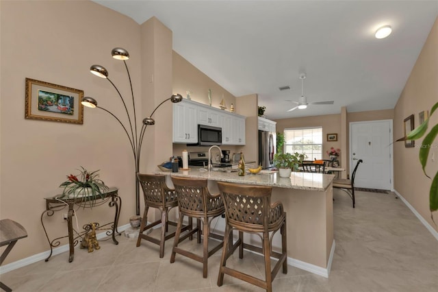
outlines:
[[[139,172],[139,169],[140,169],[140,153],[142,151],[142,142],[143,142],[144,132],[146,132],[146,127],[148,125],[155,125],[155,121],[154,121],[154,119],[152,119],[152,116],[155,113],[155,111],[157,110],[157,108],[159,108],[159,106],[161,106],[162,104],[164,104],[168,100],[172,101],[172,103],[177,103],[177,102],[181,101],[183,99],[183,97],[179,94],[174,94],[171,97],[169,97],[168,99],[164,99],[164,101],[162,101],[162,103],[159,104],[152,111],[152,113],[149,117],[146,117],[143,119],[142,128],[141,128],[140,132],[138,133],[138,131],[137,131],[136,102],[134,100],[131,75],[129,75],[129,69],[128,69],[128,66],[125,62],[126,60],[129,59],[129,53],[127,50],[125,50],[123,48],[114,48],[114,49],[112,49],[111,53],[112,53],[112,58],[114,58],[116,60],[123,60],[123,63],[125,64],[125,68],[126,68],[128,78],[129,78],[129,85],[131,86],[133,117],[131,117],[131,114],[129,113],[129,110],[128,110],[127,105],[125,103],[125,99],[123,99],[123,96],[120,93],[120,91],[118,90],[117,86],[110,80],[110,78],[108,78],[109,73],[108,73],[107,69],[105,69],[101,65],[92,65],[90,67],[90,72],[96,76],[99,76],[101,78],[105,78],[106,80],[108,80],[108,82],[110,82],[112,84],[112,86],[114,86],[114,88],[116,89],[116,91],[118,93],[118,96],[122,100],[123,106],[125,108],[125,112],[127,114],[129,125],[124,125],[122,123],[122,121],[120,121],[120,119],[118,119],[116,114],[113,114],[112,112],[110,112],[109,110],[106,110],[105,108],[102,108],[101,106],[97,106],[96,99],[94,99],[92,97],[83,97],[81,104],[83,104],[83,106],[87,106],[88,108],[100,108],[101,110],[104,110],[108,114],[111,114],[112,117],[114,117],[114,119],[116,119],[118,121],[118,123],[123,127],[123,130],[125,130],[125,133],[129,139],[129,144],[131,145],[132,154],[133,154],[133,158],[134,158],[134,162],[135,162],[135,166],[136,166],[136,215],[140,215],[140,184],[138,182],[137,173]]]

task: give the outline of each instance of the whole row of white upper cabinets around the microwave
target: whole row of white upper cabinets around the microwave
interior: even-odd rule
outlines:
[[[197,143],[198,124],[222,128],[222,145],[245,145],[246,117],[196,101],[173,104],[173,143]]]

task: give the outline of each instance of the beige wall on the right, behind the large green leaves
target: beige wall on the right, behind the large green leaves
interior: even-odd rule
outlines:
[[[394,110],[394,141],[404,136],[403,120],[414,114],[415,127],[418,123],[418,113],[430,108],[438,101],[438,19],[435,21],[430,34],[424,44],[420,56],[415,62],[406,85],[398,99]],[[438,123],[438,114],[435,113],[429,122],[429,128]],[[415,145],[421,145],[415,141]],[[418,161],[418,147],[405,148],[403,142],[394,143],[394,188],[409,204],[428,221],[430,226],[438,230],[430,219],[429,189],[430,180],[422,173]],[[435,155],[435,161],[431,160]],[[426,166],[426,173],[433,176],[438,170],[438,142],[430,149]],[[434,212],[435,222],[437,212]]]

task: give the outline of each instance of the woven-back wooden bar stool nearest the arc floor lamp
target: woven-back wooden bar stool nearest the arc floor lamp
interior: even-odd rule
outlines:
[[[153,175],[153,174],[142,174],[137,173],[138,180],[143,189],[144,195],[144,214],[142,218],[142,223],[140,224],[140,233],[138,234],[137,247],[140,246],[142,239],[146,241],[151,241],[159,245],[159,257],[164,256],[164,243],[166,240],[175,236],[175,232],[166,234],[168,232],[168,225],[177,226],[177,223],[170,221],[168,219],[169,211],[172,208],[178,206],[177,194],[173,188],[168,188],[166,185],[165,175]],[[162,213],[161,219],[153,223],[148,224],[148,212],[149,208],[157,208]],[[143,234],[145,230],[149,230],[154,226],[162,223],[162,233],[160,239],[156,239],[153,236]],[[189,220],[188,226],[183,226],[181,230],[192,229],[192,220]],[[181,239],[184,240],[188,236],[183,236]],[[191,239],[191,238],[190,238]]]

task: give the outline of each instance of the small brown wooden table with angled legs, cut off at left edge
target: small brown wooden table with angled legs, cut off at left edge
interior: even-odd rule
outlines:
[[[27,232],[20,223],[12,221],[11,219],[0,220],[0,247],[8,245],[8,247],[6,247],[6,249],[3,251],[3,254],[1,254],[0,265],[3,263],[3,260],[5,260],[6,256],[8,256],[18,239],[24,239],[25,237],[27,237]],[[4,291],[12,291],[12,289],[2,282],[0,282],[0,288]]]

